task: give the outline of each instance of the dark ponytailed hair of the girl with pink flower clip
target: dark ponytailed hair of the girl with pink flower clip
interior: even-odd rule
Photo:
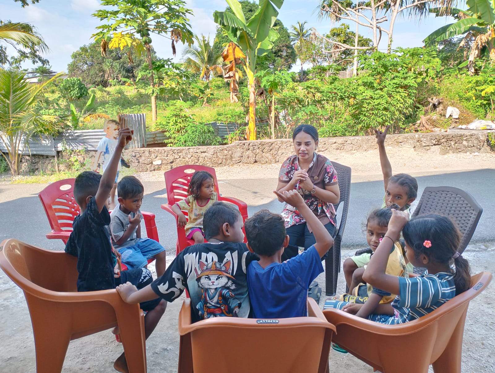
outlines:
[[[446,216],[425,214],[413,217],[402,229],[406,244],[414,250],[416,258],[425,254],[430,261],[450,265],[459,249],[461,234],[455,223]],[[430,241],[431,246],[424,246]],[[469,263],[461,255],[453,259],[455,264],[455,295],[469,289],[471,275]]]

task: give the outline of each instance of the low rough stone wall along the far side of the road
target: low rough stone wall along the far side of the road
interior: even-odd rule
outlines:
[[[487,131],[452,130],[436,133],[388,135],[387,146],[410,146],[418,152],[486,153]],[[374,136],[321,138],[318,149],[355,152],[376,149]],[[235,164],[281,163],[293,154],[292,140],[236,141],[230,145],[195,147],[138,148],[125,151],[125,158],[138,172],[167,171],[186,164],[232,166]]]

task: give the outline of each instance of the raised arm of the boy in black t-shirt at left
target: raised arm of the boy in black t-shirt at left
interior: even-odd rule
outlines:
[[[117,168],[120,162],[120,156],[122,155],[122,150],[129,143],[129,141],[132,140],[132,135],[134,133],[134,131],[128,127],[124,128],[124,124],[125,120],[122,119],[120,122],[117,147],[115,148],[112,158],[110,159],[108,166],[106,166],[105,172],[101,177],[98,191],[95,196],[99,212],[103,209],[103,206],[108,199],[108,195],[110,194],[110,190],[112,189],[113,184],[115,184],[115,176],[117,175]]]

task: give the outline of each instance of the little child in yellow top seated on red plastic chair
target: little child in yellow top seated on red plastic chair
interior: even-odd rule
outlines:
[[[186,198],[172,205],[172,210],[178,217],[177,226],[185,227],[186,238],[194,240],[195,244],[202,244],[204,213],[217,200],[213,176],[206,171],[196,171],[191,178],[187,193]],[[187,219],[182,210],[188,212]]]

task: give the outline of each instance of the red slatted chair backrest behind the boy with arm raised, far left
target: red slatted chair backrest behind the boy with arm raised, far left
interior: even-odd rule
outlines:
[[[72,232],[72,222],[81,211],[74,199],[74,181],[59,180],[38,193],[50,227],[55,232]]]

